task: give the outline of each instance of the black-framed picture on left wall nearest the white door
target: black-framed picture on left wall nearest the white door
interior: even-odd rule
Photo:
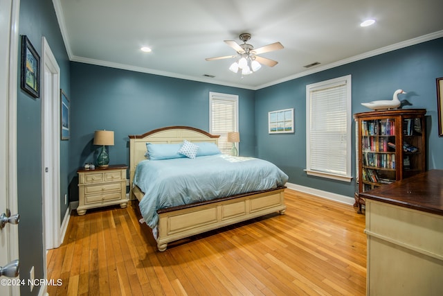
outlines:
[[[25,92],[40,96],[40,56],[26,35],[21,36],[21,76],[20,86]]]

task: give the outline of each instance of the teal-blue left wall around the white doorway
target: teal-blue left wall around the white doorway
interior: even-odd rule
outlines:
[[[27,35],[40,57],[42,36],[51,47],[60,67],[60,87],[70,95],[70,63],[51,0],[21,0],[19,34]],[[21,55],[20,49],[19,57]],[[20,69],[20,60],[18,61]],[[20,85],[20,71],[18,71]],[[43,71],[41,71],[43,75]],[[42,87],[42,85],[40,85]],[[60,216],[68,205],[64,194],[68,189],[68,141],[60,143]],[[20,214],[19,259],[20,278],[29,278],[31,266],[35,279],[43,278],[43,220],[42,220],[42,99],[32,98],[18,86],[17,90],[17,203]],[[20,287],[21,295],[37,295],[39,287],[30,293],[29,286]]]

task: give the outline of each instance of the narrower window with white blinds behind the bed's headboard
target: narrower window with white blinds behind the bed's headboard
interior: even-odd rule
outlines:
[[[238,96],[209,93],[209,132],[220,135],[221,153],[230,154],[233,143],[228,143],[228,132],[238,132]]]

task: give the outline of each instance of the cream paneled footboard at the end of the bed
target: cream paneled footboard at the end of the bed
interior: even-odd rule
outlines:
[[[237,195],[216,202],[192,207],[159,210],[157,247],[163,252],[168,243],[209,230],[233,225],[252,218],[274,213],[284,214],[284,189]]]

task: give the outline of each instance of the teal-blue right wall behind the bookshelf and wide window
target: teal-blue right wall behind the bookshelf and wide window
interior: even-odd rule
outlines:
[[[443,77],[443,38],[408,46],[372,58],[345,64],[309,76],[266,87],[255,92],[257,157],[277,164],[289,175],[289,182],[352,197],[353,182],[307,176],[306,168],[306,85],[348,74],[352,75],[352,114],[370,111],[361,103],[390,100],[396,89],[413,106],[427,110],[428,169],[443,168],[443,138],[438,137],[435,79]],[[294,134],[268,134],[268,112],[294,108]],[[352,123],[352,176],[356,175],[355,123]]]

